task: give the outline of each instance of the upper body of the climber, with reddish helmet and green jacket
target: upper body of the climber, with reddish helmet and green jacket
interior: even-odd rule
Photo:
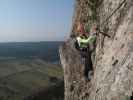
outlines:
[[[94,45],[95,41],[96,41],[96,35],[97,35],[97,27],[94,24],[92,27],[92,30],[90,33],[85,31],[84,23],[79,23],[78,27],[77,27],[77,32],[79,33],[79,36],[76,37],[76,48],[78,50],[84,50],[87,48],[90,48],[90,46]],[[93,47],[94,50],[95,47]],[[91,51],[93,51],[91,49]]]

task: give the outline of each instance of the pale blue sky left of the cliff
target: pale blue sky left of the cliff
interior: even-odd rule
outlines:
[[[0,42],[68,38],[74,0],[0,0]]]

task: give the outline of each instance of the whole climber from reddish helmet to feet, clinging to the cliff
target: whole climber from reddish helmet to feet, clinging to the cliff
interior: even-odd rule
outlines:
[[[87,33],[85,31],[84,23],[79,23],[77,27],[77,31],[79,36],[76,37],[76,45],[75,47],[80,51],[82,62],[85,64],[84,76],[85,79],[90,80],[90,76],[88,76],[89,72],[93,71],[92,59],[91,59],[91,50],[90,46],[94,44],[96,41],[96,30],[93,30],[92,33]]]

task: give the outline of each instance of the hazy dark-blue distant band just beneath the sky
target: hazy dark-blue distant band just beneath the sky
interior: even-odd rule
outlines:
[[[47,62],[58,62],[58,48],[63,42],[12,42],[0,43],[0,60],[41,58]]]

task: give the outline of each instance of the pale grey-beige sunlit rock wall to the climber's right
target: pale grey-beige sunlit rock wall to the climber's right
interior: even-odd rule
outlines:
[[[108,29],[111,38],[98,37],[95,85],[89,98],[129,100],[133,92],[133,1],[104,0],[99,18],[100,28]]]

